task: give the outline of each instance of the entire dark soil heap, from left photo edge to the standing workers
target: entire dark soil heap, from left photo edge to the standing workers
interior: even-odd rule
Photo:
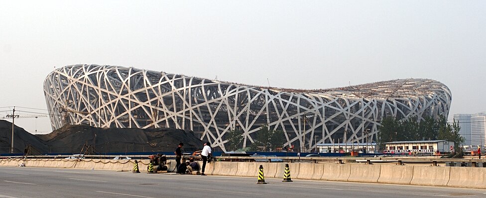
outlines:
[[[10,127],[8,127],[10,126]],[[10,134],[10,135],[9,135]],[[11,123],[0,120],[0,149],[10,148]],[[32,135],[15,127],[15,151],[23,153],[27,145],[39,153],[80,153],[90,146],[92,154],[131,152],[173,152],[184,143],[183,150],[200,150],[203,143],[192,131],[170,128],[96,128],[88,125],[66,125],[45,135]],[[9,150],[1,149],[1,153]]]

